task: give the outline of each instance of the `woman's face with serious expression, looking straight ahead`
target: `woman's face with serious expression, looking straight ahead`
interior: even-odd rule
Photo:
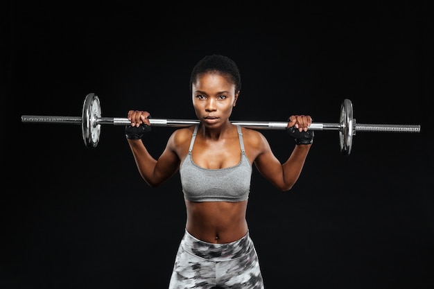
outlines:
[[[229,79],[219,73],[204,73],[193,82],[193,107],[205,125],[226,123],[232,114],[239,91],[235,93],[235,85]]]

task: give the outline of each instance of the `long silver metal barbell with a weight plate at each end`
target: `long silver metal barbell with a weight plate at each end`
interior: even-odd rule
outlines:
[[[96,94],[87,94],[83,103],[81,116],[37,116],[22,115],[23,123],[64,123],[80,124],[83,141],[87,148],[96,148],[101,134],[101,125],[130,125],[127,118],[102,117],[101,103]],[[153,126],[186,127],[199,124],[198,120],[184,119],[149,119]],[[257,130],[286,130],[288,122],[285,121],[231,121],[234,125]],[[357,132],[420,132],[420,125],[388,125],[388,124],[361,124],[356,123],[353,117],[351,100],[345,98],[340,105],[339,123],[311,123],[308,130],[338,130],[340,152],[349,155],[353,137]]]

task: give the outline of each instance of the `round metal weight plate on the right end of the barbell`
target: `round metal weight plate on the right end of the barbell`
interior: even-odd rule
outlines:
[[[339,143],[342,155],[351,153],[353,135],[355,134],[356,120],[353,119],[353,104],[351,100],[344,99],[340,105]]]

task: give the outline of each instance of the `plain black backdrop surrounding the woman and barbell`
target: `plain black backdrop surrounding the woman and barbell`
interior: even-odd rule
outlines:
[[[298,3],[5,1],[1,48],[2,288],[166,288],[184,233],[179,176],[150,189],[123,127],[86,148],[80,125],[21,123],[148,110],[194,119],[189,73],[233,58],[243,88],[232,120],[310,114],[338,123],[419,124],[419,134],[315,133],[293,190],[256,170],[248,222],[266,288],[434,288],[433,10]],[[302,44],[299,44],[302,43]],[[173,128],[146,136],[155,157]],[[293,141],[263,130],[275,155]]]

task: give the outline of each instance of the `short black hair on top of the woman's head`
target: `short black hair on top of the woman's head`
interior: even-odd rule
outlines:
[[[190,90],[198,76],[207,72],[216,72],[228,77],[234,82],[235,93],[241,90],[241,74],[238,70],[238,66],[231,58],[218,54],[205,56],[193,67],[190,76]]]

